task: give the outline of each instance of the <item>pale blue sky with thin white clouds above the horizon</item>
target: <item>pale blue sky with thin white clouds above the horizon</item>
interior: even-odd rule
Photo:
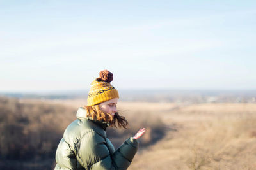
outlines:
[[[1,1],[0,92],[256,89],[256,1]]]

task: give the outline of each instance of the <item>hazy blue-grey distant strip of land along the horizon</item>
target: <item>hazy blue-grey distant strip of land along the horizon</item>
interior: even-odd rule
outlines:
[[[256,90],[119,90],[122,101],[181,103],[256,103]],[[1,96],[29,99],[86,99],[88,92],[12,93]]]

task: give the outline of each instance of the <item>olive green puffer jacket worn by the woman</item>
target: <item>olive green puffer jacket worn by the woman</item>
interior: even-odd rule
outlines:
[[[106,136],[109,124],[86,117],[79,108],[56,151],[55,169],[127,169],[138,150],[138,141],[127,139],[117,150]]]

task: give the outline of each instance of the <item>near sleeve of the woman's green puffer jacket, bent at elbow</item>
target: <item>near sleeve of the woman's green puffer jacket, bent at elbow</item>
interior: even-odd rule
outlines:
[[[97,132],[88,132],[76,146],[77,161],[85,169],[127,169],[138,150],[138,141],[127,139],[112,155],[106,140]]]

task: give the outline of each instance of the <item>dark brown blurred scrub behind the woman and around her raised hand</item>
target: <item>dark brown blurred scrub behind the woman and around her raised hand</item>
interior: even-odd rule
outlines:
[[[130,129],[107,129],[116,147],[142,126],[148,134],[141,146],[163,137],[164,124],[159,118],[130,117]],[[0,169],[52,169],[63,132],[75,119],[76,110],[64,105],[0,97]]]

